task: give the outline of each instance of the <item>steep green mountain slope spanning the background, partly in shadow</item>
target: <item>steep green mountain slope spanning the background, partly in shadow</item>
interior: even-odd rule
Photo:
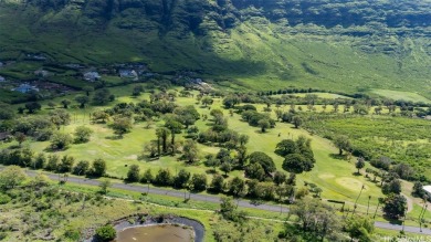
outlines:
[[[431,98],[430,1],[0,0],[0,60],[145,62],[235,88]]]

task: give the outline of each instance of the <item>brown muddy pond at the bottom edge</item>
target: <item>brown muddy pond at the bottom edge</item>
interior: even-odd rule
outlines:
[[[192,242],[193,230],[175,224],[127,228],[117,233],[116,242]]]

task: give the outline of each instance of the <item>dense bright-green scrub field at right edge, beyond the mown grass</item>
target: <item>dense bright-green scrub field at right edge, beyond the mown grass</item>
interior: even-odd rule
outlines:
[[[376,115],[317,115],[309,117],[305,126],[332,139],[337,135],[348,136],[354,154],[367,160],[385,156],[395,164],[409,164],[424,178],[431,176],[429,120]]]

